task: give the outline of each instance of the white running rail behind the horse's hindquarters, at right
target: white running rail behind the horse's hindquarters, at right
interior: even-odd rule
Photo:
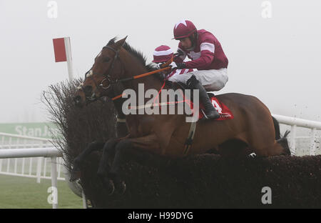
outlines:
[[[311,129],[311,137],[310,137],[310,155],[315,155],[315,149],[318,143],[318,140],[320,141],[320,138],[317,137],[317,131],[321,130],[321,122],[316,121],[310,121],[307,119],[298,119],[296,117],[285,117],[279,114],[272,114],[275,119],[277,119],[280,124],[286,124],[291,127],[290,132],[290,150],[291,154],[296,154],[296,148],[295,148],[295,139],[297,138],[303,138],[303,137],[297,137],[297,127],[302,127],[306,129]],[[320,143],[320,142],[319,142]]]

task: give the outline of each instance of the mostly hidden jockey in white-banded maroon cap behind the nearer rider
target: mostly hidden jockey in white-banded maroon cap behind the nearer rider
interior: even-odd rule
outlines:
[[[161,45],[155,49],[153,53],[152,62],[158,64],[158,67],[159,67],[161,64],[169,61],[172,58],[173,58],[173,50],[170,49],[169,46]],[[177,78],[178,75],[186,74],[191,71],[196,71],[196,69],[173,69],[172,71],[171,70],[165,71],[163,72],[163,74],[165,75],[165,80],[178,82],[179,80],[179,78]]]

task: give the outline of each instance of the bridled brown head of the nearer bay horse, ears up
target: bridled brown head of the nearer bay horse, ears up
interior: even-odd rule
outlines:
[[[90,101],[96,101],[101,96],[115,96],[117,80],[123,76],[120,54],[121,46],[125,44],[127,36],[114,44],[103,46],[101,53],[96,56],[91,69],[86,72],[85,80],[78,86],[73,97],[76,106],[82,107]]]

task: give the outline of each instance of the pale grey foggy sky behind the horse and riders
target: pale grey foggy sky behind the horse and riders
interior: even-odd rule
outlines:
[[[41,91],[68,79],[55,63],[52,39],[70,36],[73,71],[83,77],[115,36],[151,62],[153,50],[177,49],[173,26],[181,19],[212,32],[229,59],[229,81],[218,94],[257,96],[274,114],[321,121],[321,1],[49,1],[0,0],[0,122],[46,121]]]

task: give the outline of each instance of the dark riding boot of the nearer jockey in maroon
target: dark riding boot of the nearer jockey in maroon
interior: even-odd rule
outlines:
[[[208,92],[206,92],[203,85],[200,84],[200,81],[198,81],[198,79],[196,79],[196,77],[193,75],[190,77],[190,79],[188,79],[187,84],[188,86],[190,86],[190,88],[199,90],[200,102],[203,103],[205,108],[205,114],[204,114],[205,119],[220,118],[220,114],[214,108],[212,102],[210,101],[210,98],[208,97]]]

